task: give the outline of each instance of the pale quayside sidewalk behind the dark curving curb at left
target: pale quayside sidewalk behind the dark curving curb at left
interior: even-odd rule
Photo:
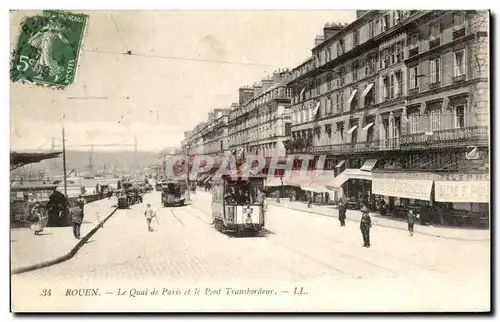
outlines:
[[[98,215],[104,220],[115,209],[112,207],[115,204],[115,197],[86,204],[81,237],[96,227]],[[11,271],[64,256],[79,242],[73,237],[72,227],[45,227],[38,236],[29,228],[11,229],[10,233]]]

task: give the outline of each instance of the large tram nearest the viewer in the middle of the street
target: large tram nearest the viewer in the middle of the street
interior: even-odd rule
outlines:
[[[259,234],[265,224],[265,175],[223,175],[212,180],[212,219],[221,233]]]

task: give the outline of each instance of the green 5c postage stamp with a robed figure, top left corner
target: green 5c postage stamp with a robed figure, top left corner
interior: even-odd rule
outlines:
[[[75,80],[87,16],[43,11],[26,18],[13,54],[12,81],[64,87]]]

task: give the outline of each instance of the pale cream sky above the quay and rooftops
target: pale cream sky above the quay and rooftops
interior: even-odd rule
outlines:
[[[50,149],[62,125],[72,149],[132,150],[135,138],[139,150],[180,145],[209,111],[237,102],[239,87],[309,57],[326,22],[355,19],[355,11],[73,12],[89,16],[75,83],[11,83],[11,150]],[[11,12],[11,51],[22,18],[39,13]]]

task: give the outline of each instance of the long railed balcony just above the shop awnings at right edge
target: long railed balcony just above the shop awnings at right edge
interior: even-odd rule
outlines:
[[[461,129],[421,132],[401,136],[401,149],[426,149],[442,146],[488,145],[488,127],[475,126]]]

